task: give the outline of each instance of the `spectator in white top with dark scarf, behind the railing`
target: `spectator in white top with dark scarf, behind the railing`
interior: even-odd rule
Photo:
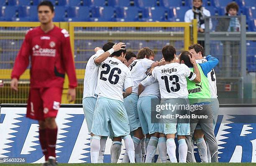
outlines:
[[[202,7],[202,0],[193,0],[192,9],[187,10],[184,16],[184,21],[191,23],[193,19],[197,19],[198,32],[205,32],[205,17],[211,16],[209,10]],[[210,21],[210,29],[212,28],[212,23]]]

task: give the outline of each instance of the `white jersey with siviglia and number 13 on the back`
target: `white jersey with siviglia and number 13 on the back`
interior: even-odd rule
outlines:
[[[159,82],[161,98],[173,99],[188,97],[186,78],[192,81],[196,74],[185,64],[170,63],[156,66],[152,76]]]

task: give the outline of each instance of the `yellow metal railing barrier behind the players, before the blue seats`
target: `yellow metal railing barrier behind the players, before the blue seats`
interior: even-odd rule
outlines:
[[[172,44],[177,54],[197,42],[197,23],[182,22],[60,22],[55,23],[69,31],[78,79],[74,103],[82,103],[83,79],[87,60],[94,48],[108,41],[125,42],[128,51],[137,54],[142,47],[154,50],[156,60],[161,59],[161,49]],[[26,103],[29,89],[29,67],[20,77],[19,90],[10,90],[10,74],[15,57],[23,42],[26,30],[39,26],[36,22],[1,22],[0,24],[0,103]],[[1,82],[0,82],[1,84]],[[67,100],[68,79],[65,77],[62,103]]]

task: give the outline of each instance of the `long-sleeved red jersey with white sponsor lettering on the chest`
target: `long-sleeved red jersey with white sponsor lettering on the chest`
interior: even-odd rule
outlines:
[[[31,87],[63,87],[65,72],[69,78],[69,87],[77,87],[74,59],[67,30],[56,26],[47,33],[40,27],[28,30],[14,63],[12,79],[19,79],[26,70],[29,57],[31,58]]]

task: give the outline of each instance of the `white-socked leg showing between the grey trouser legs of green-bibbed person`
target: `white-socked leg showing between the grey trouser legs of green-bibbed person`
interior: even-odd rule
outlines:
[[[204,140],[203,130],[195,130],[194,139],[197,144],[198,153],[203,163],[208,163],[207,145]]]

